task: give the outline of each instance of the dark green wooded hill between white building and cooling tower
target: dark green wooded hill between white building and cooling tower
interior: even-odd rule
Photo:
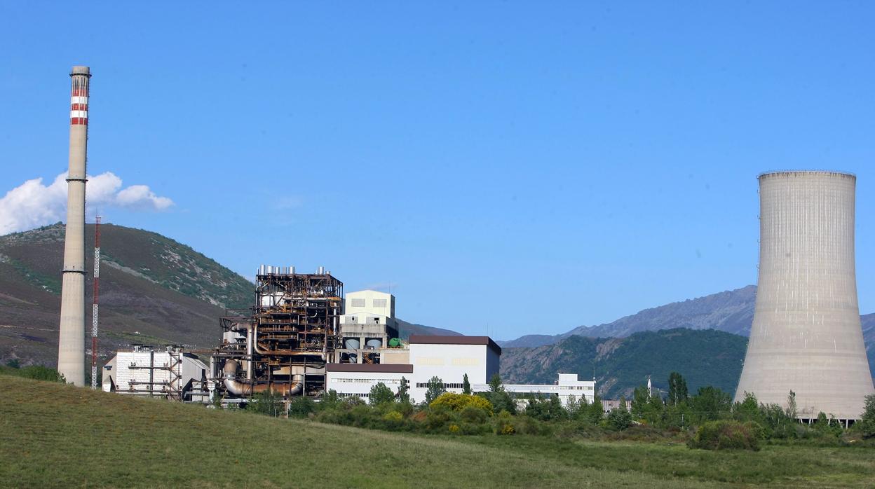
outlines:
[[[556,345],[505,348],[501,375],[510,383],[552,383],[559,372],[591,379],[594,369],[600,393],[615,398],[647,383],[648,375],[655,388],[667,389],[669,374],[676,371],[691,392],[711,385],[734,393],[746,346],[739,335],[683,328],[627,338],[571,336]]]

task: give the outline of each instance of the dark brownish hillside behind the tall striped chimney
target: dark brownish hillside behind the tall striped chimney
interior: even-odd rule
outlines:
[[[104,355],[130,343],[213,346],[223,306],[248,304],[254,297],[253,285],[242,276],[177,241],[111,224],[103,225],[101,234]],[[93,225],[86,227],[86,237],[91,270]],[[0,360],[57,361],[63,240],[59,224],[0,237]],[[87,304],[92,280],[88,273]]]

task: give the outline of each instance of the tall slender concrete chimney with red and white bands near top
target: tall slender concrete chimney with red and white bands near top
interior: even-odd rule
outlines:
[[[58,371],[85,385],[85,164],[88,148],[88,66],[70,73],[70,170],[66,178],[66,236],[60,295]]]

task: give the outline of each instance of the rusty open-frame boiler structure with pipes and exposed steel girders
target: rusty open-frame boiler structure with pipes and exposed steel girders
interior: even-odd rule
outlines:
[[[297,274],[294,267],[268,265],[255,281],[255,305],[221,318],[222,341],[210,362],[214,398],[320,395],[325,364],[340,347],[343,283],[322,267]]]

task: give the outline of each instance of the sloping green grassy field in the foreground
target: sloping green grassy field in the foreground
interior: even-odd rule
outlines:
[[[875,450],[423,437],[0,375],[0,486],[875,486]]]

